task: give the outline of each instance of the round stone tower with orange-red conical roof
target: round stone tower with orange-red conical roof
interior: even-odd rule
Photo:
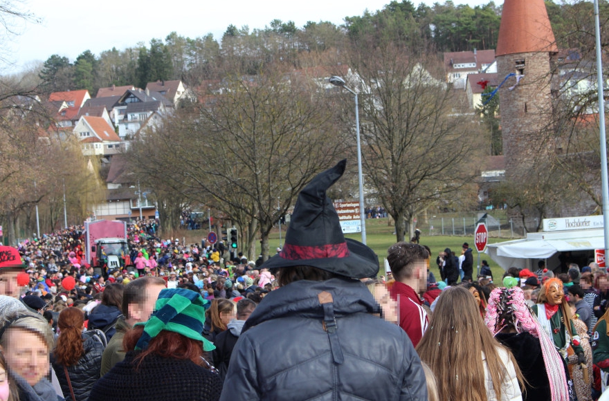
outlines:
[[[505,0],[496,49],[506,175],[518,178],[548,151],[552,121],[550,57],[557,51],[543,0]]]

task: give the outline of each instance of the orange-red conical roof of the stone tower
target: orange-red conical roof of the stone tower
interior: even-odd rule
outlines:
[[[557,50],[543,0],[505,0],[496,56]]]

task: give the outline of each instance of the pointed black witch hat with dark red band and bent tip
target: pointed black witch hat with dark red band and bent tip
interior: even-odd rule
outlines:
[[[347,160],[318,174],[300,192],[281,252],[262,268],[311,266],[354,279],[374,277],[379,257],[361,242],[345,239],[326,191],[343,176]]]

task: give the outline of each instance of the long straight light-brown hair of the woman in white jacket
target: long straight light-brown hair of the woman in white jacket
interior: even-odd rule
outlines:
[[[483,353],[491,388],[500,399],[507,367],[500,359],[499,350],[509,355],[522,388],[524,382],[518,363],[509,349],[493,337],[480,317],[471,292],[461,286],[446,288],[439,296],[429,328],[417,345],[421,361],[429,365],[435,377],[442,377],[437,383],[439,399],[448,401],[487,401]]]

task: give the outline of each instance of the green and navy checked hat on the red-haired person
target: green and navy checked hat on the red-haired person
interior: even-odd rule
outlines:
[[[134,326],[144,326],[144,333],[136,344],[136,350],[147,348],[151,339],[161,330],[179,333],[203,343],[203,351],[215,350],[214,344],[203,337],[205,321],[205,301],[197,292],[185,288],[168,288],[161,290],[150,319],[136,323]]]

